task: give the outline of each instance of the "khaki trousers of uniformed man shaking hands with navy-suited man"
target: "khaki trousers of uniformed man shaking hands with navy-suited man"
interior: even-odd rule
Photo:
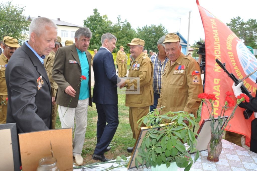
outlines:
[[[143,116],[149,113],[149,106],[145,107],[129,107],[129,123],[133,133],[133,138],[137,139],[139,135],[139,124],[137,121]],[[145,124],[141,124],[140,127],[145,127]]]

